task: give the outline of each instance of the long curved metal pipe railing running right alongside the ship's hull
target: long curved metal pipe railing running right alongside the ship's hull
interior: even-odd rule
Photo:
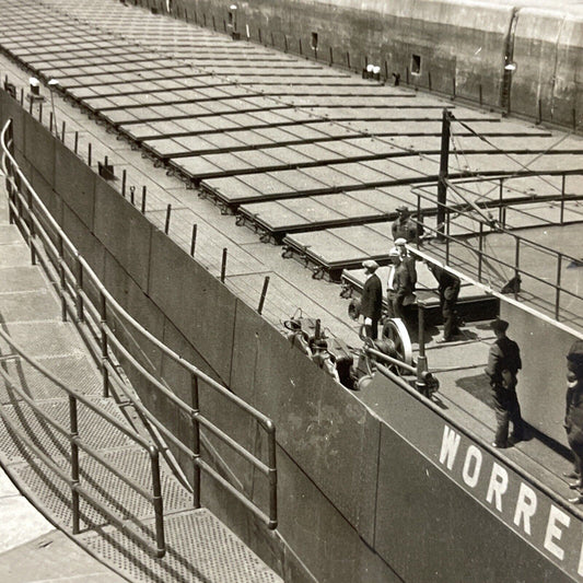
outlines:
[[[38,259],[47,272],[53,272],[61,300],[62,319],[67,319],[69,313],[72,312],[75,319],[86,326],[89,331],[83,333],[83,326],[80,326],[79,329],[84,334],[88,345],[94,351],[98,351],[103,373],[104,396],[108,396],[112,387],[119,388],[127,398],[131,399],[140,415],[147,418],[167,440],[191,459],[194,504],[196,508],[200,506],[201,471],[205,471],[264,521],[269,528],[276,528],[277,462],[276,428],[273,422],[165,346],[131,317],[110,295],[89,263],[79,254],[77,247],[48,212],[34,188],[19,168],[10,151],[12,140],[10,137],[11,124],[12,120],[5,124],[0,136],[2,167],[7,175],[10,198],[10,220],[15,221],[21,228],[30,245],[33,264]],[[45,255],[47,259],[45,259]],[[72,307],[70,305],[71,303]],[[124,341],[119,337],[125,329],[140,335],[140,337],[189,374],[191,380],[191,405],[177,397],[164,380],[153,371],[153,366],[150,366],[151,370],[148,370],[148,363],[145,365],[141,363],[132,354],[131,347],[124,345]],[[95,330],[95,334],[92,334],[91,330]],[[139,349],[139,342],[136,342],[135,347]],[[152,387],[164,395],[164,397],[171,400],[189,418],[193,430],[191,444],[184,444],[127,389],[124,380],[118,375],[118,368],[116,365],[117,357],[124,359],[124,362],[130,365],[141,378],[148,381]],[[240,410],[250,416],[257,422],[258,427],[263,428],[267,439],[266,462],[259,459],[256,455],[243,447],[237,441],[201,413],[199,408],[200,383],[203,383],[206,387],[213,389],[230,403],[237,406]],[[269,490],[267,512],[261,510],[253,501],[250,494],[235,488],[217,469],[201,458],[200,444],[201,440],[206,439],[205,434],[201,434],[201,429],[212,434],[266,476]]]

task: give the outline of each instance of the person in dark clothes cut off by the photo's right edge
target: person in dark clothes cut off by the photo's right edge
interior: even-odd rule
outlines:
[[[579,341],[581,342],[581,341]],[[571,488],[579,490],[578,495],[569,502],[583,502],[583,346],[578,342],[571,347],[567,354],[567,415],[564,418],[564,429],[567,431],[567,441],[573,452],[574,477],[576,481],[571,483]]]

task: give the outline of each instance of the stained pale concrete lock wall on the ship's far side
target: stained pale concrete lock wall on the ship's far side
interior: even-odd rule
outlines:
[[[143,7],[165,2],[136,0]],[[383,82],[579,128],[583,12],[479,0],[174,0],[172,13]],[[235,7],[235,8],[233,8]],[[505,70],[511,66],[512,70]]]

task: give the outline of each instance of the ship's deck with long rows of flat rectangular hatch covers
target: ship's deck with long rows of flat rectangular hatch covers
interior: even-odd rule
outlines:
[[[459,155],[451,159],[452,178],[467,177],[468,170],[483,178],[468,197],[488,199],[497,213],[502,200],[509,230],[564,255],[561,284],[580,294],[579,137],[381,85],[115,2],[44,5],[55,22],[39,28],[32,11],[0,2],[1,44],[11,55],[0,56],[2,73],[19,92],[30,73],[14,59],[58,79],[62,91],[53,96],[54,125],[63,141],[74,141],[90,165],[107,156],[120,188],[125,176],[126,196],[211,273],[221,276],[226,257],[225,284],[249,305],[258,305],[269,277],[263,314],[272,325],[281,328],[301,311],[350,346],[362,345],[338,276],[358,271],[371,256],[386,260],[388,222],[398,205],[432,206],[444,107],[465,124],[456,132]],[[60,26],[65,16],[50,7],[79,18],[79,30]],[[114,35],[92,28],[97,20]],[[148,50],[139,45],[145,37]],[[44,109],[46,121],[48,101]],[[422,200],[411,185],[424,187]],[[452,224],[460,241],[476,235],[475,225]],[[513,265],[515,246],[508,238],[488,234],[500,265],[483,273],[485,284],[501,285],[513,276],[511,267],[501,267]],[[308,253],[300,261],[285,259],[281,242],[292,255]],[[423,252],[445,258],[435,242]],[[557,267],[547,255],[522,256],[521,266],[533,277],[523,282],[520,300],[553,315],[556,291],[545,280],[553,280]],[[451,263],[464,270],[470,259],[460,252]],[[471,269],[468,273],[477,279]],[[360,276],[351,277],[358,288]],[[561,304],[561,320],[578,334],[581,307],[575,296]],[[468,323],[464,339],[450,345],[435,342],[439,333],[431,328],[427,345],[430,370],[441,383],[438,404],[490,442],[495,423],[482,369],[493,336],[482,320]],[[359,396],[376,405],[364,390]],[[570,464],[563,454],[536,432],[500,453],[564,498],[570,491],[560,476]]]

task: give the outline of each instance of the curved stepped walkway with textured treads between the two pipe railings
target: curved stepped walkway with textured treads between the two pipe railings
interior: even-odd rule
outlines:
[[[5,194],[0,197],[0,320],[2,330],[65,384],[88,397],[120,423],[147,436],[131,411],[101,396],[102,380],[71,323],[62,323],[60,305],[15,225],[8,224]],[[0,341],[0,463],[21,491],[54,524],[71,533],[71,492],[42,458],[24,445],[10,424],[24,432],[46,456],[70,475],[69,440],[48,424],[14,390],[24,389],[35,405],[69,430],[69,398],[31,364]],[[127,409],[127,407],[126,407]],[[129,415],[128,415],[129,412]],[[7,421],[5,421],[7,420]],[[151,491],[148,453],[102,417],[79,403],[79,435],[124,476]],[[81,499],[75,540],[130,581],[205,583],[281,581],[208,510],[193,509],[190,492],[161,464],[167,552],[163,559],[136,545],[97,508]],[[80,482],[120,517],[128,529],[154,536],[153,506],[92,456],[80,453]],[[22,525],[23,528],[26,525]],[[56,570],[60,567],[56,564]],[[55,572],[59,578],[60,571]],[[20,581],[22,581],[20,579]]]

